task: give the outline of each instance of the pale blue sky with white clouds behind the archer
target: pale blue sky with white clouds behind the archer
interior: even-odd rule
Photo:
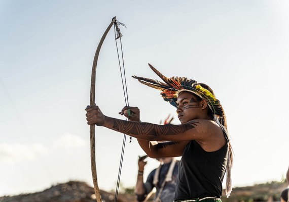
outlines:
[[[289,2],[0,0],[0,196],[81,180],[92,185],[89,105],[93,57],[114,16],[130,106],[159,124],[175,108],[131,78],[185,76],[208,84],[225,109],[234,187],[280,181],[289,166]],[[113,29],[100,51],[96,104],[125,106]],[[96,127],[100,189],[114,190],[123,134]],[[135,185],[136,139],[127,138],[123,186]],[[144,177],[158,166],[149,159]],[[233,192],[232,192],[233,194]]]

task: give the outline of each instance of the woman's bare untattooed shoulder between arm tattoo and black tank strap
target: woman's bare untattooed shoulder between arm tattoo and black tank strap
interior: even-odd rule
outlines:
[[[218,123],[204,119],[194,121],[198,123],[196,129],[203,134],[203,138],[197,140],[197,142],[204,150],[215,151],[227,143],[223,130]]]

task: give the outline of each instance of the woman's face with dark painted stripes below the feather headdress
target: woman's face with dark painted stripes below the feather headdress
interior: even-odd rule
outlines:
[[[203,113],[202,101],[197,100],[198,97],[191,92],[183,91],[178,94],[176,113],[180,123],[198,119],[200,113]]]

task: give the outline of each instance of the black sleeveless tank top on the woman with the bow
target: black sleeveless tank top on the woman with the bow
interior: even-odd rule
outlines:
[[[190,141],[178,165],[175,200],[197,197],[221,197],[222,182],[228,161],[227,143],[216,151],[205,151],[195,140]]]

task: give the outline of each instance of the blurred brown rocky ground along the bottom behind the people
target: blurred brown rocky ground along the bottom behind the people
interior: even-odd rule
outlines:
[[[287,182],[268,182],[254,186],[235,187],[229,198],[223,192],[223,202],[280,201],[280,193]],[[115,193],[101,190],[103,202],[114,201]],[[133,192],[132,190],[130,192]],[[152,197],[153,198],[153,197]],[[70,181],[57,184],[41,192],[0,197],[0,202],[95,202],[93,187],[85,182]],[[136,202],[131,194],[118,194],[118,202]],[[149,200],[149,201],[152,201]]]

